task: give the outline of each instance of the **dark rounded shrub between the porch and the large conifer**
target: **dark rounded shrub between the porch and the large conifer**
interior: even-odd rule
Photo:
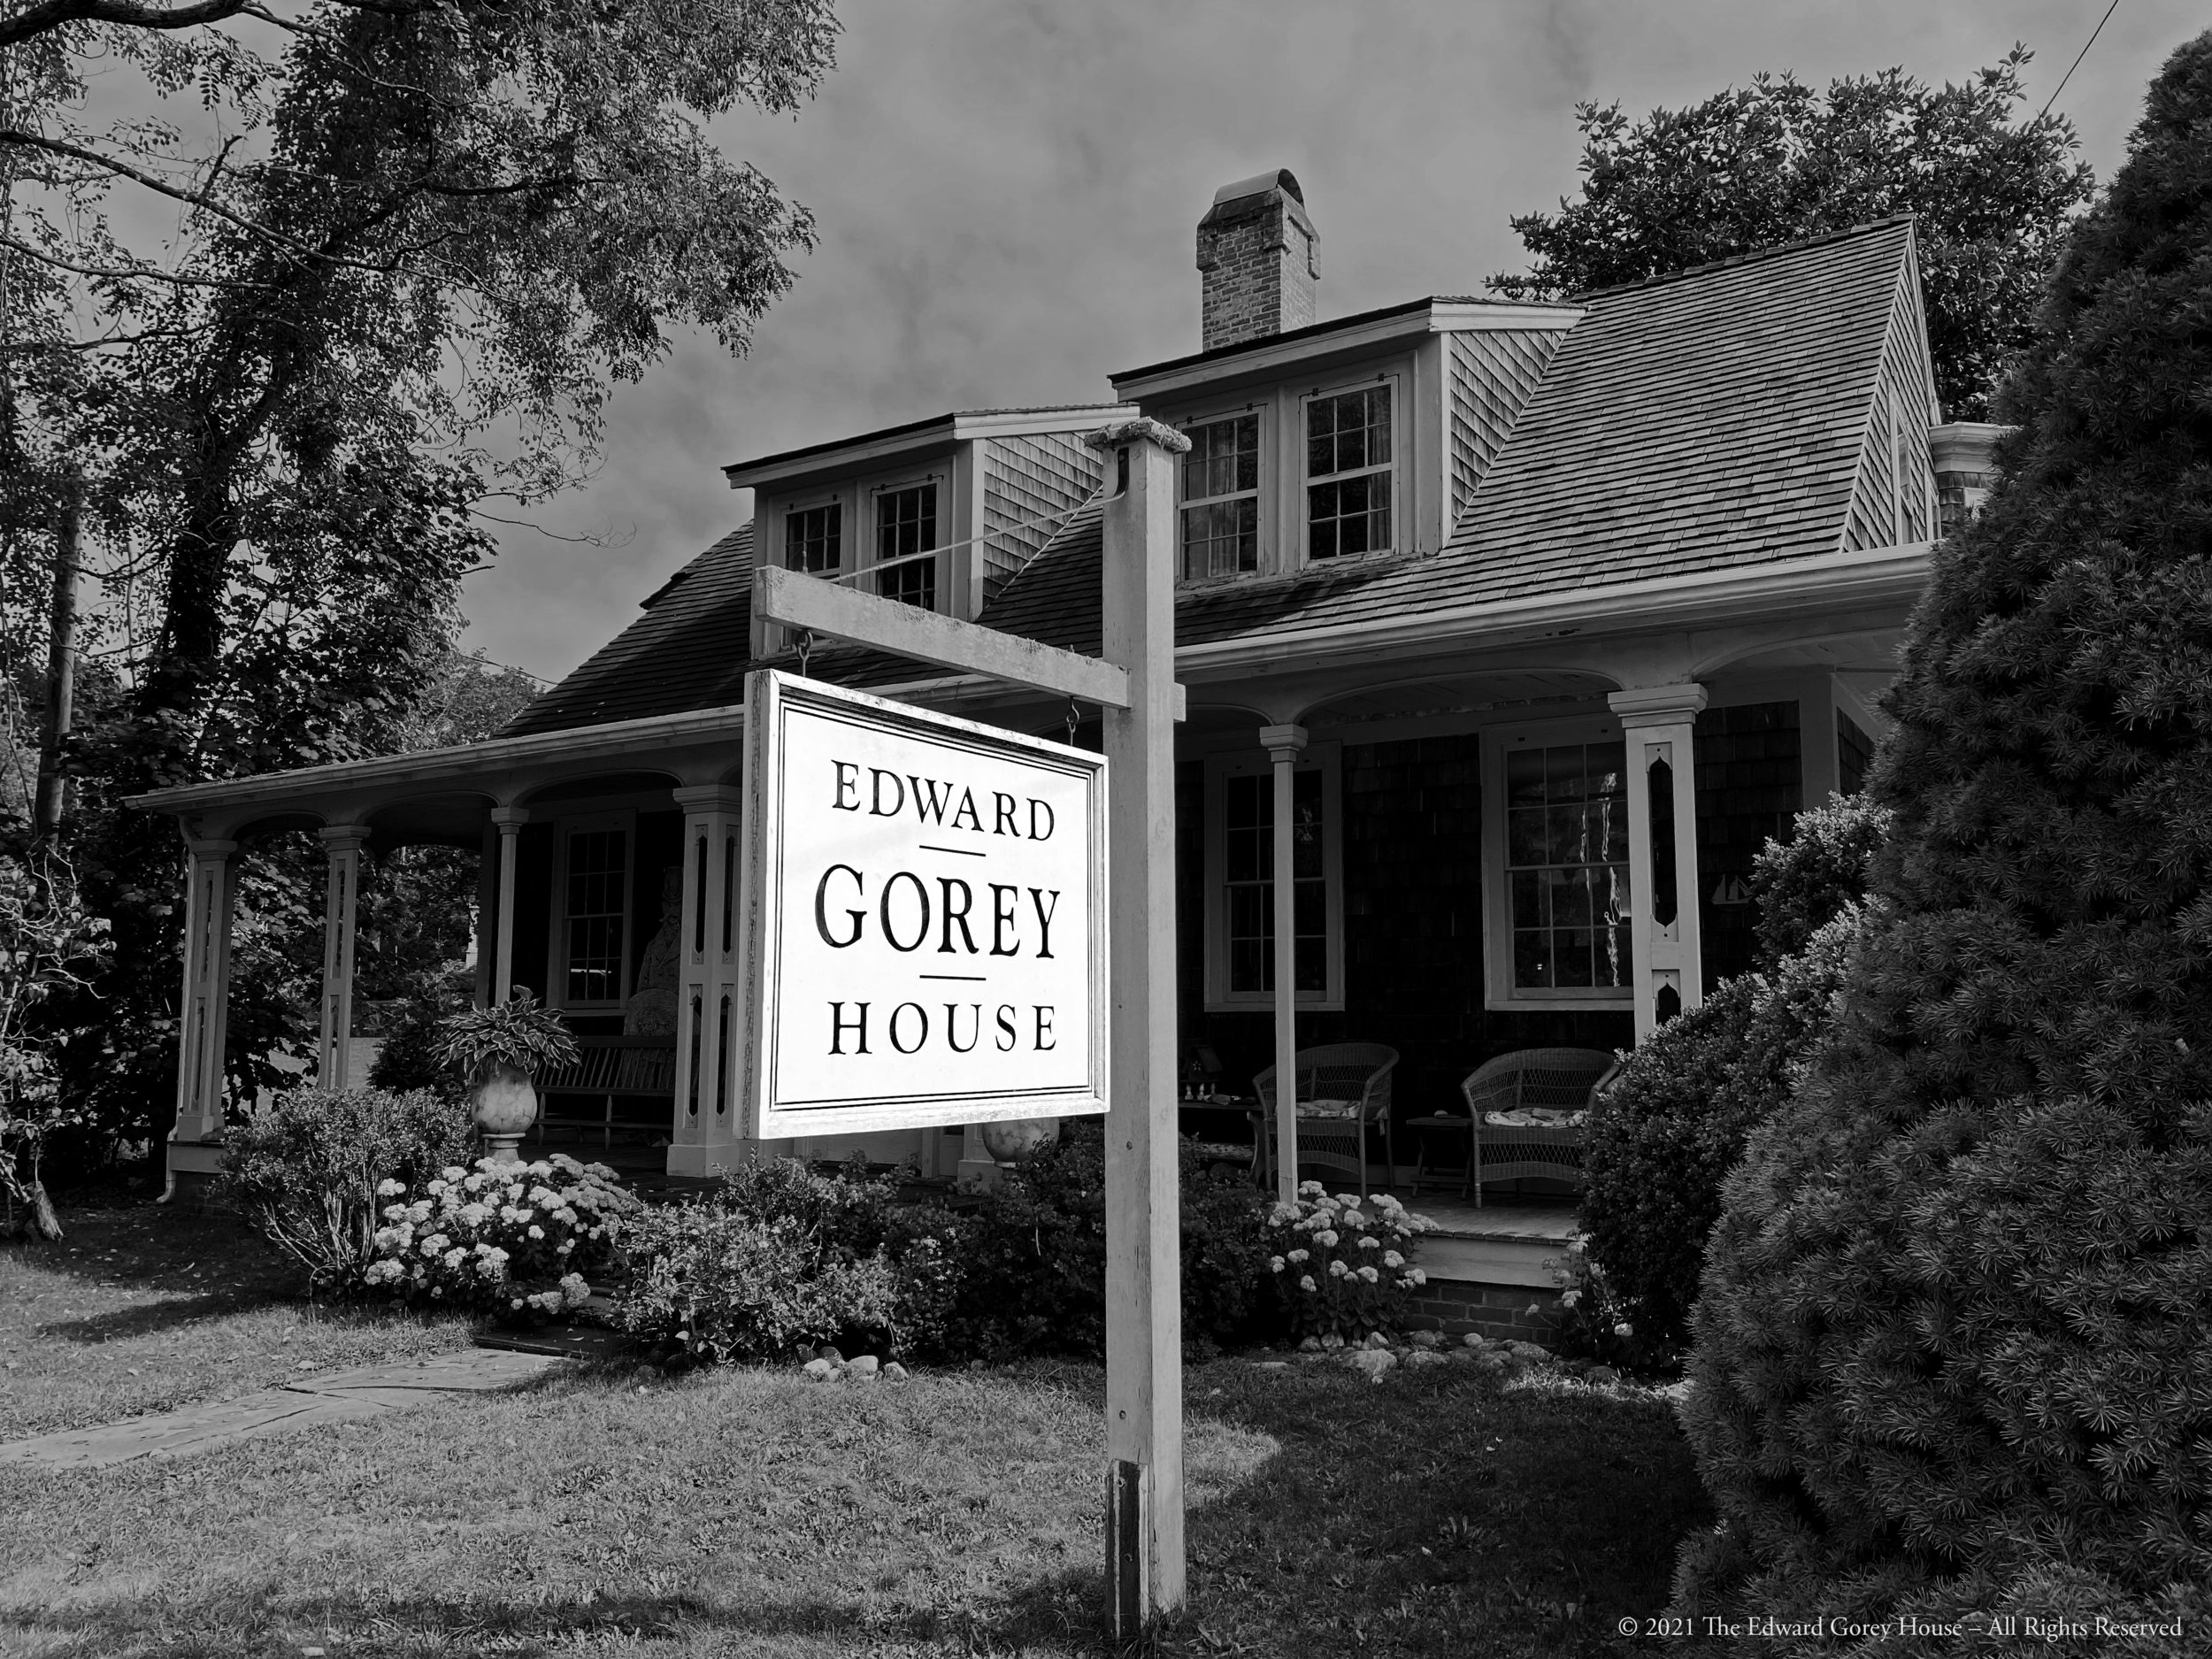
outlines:
[[[1798,814],[1787,843],[1770,841],[1752,896],[1776,956],[1637,1044],[1590,1110],[1582,1232],[1619,1312],[1599,1334],[1630,1323],[1646,1365],[1690,1340],[1721,1179],[1829,1026],[1863,925],[1854,898],[1887,825],[1885,807],[1829,799]]]

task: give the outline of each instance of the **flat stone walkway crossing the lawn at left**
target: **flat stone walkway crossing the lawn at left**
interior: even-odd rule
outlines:
[[[555,1354],[513,1354],[471,1347],[427,1360],[363,1365],[285,1383],[281,1389],[248,1394],[217,1405],[195,1405],[150,1418],[128,1418],[100,1429],[64,1429],[35,1440],[0,1444],[0,1464],[46,1469],[102,1469],[133,1458],[188,1458],[248,1440],[312,1429],[323,1422],[358,1422],[389,1411],[414,1411],[458,1394],[498,1394],[535,1383],[568,1365]]]

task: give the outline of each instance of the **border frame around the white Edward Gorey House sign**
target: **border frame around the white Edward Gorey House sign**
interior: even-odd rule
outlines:
[[[783,980],[783,916],[790,894],[785,856],[783,765],[785,726],[792,712],[843,721],[874,732],[920,739],[949,750],[989,754],[1020,765],[1044,765],[1062,776],[1077,776],[1088,790],[1084,814],[1084,905],[1086,927],[1086,998],[1088,1075],[1077,1088],[1029,1093],[922,1093],[878,1097],[849,1106],[787,1108],[776,1099],[781,1009],[776,989]],[[754,668],[745,675],[745,812],[743,812],[743,942],[739,953],[739,995],[743,1018],[743,1066],[739,1133],[748,1139],[779,1141],[821,1135],[865,1135],[898,1128],[951,1128],[960,1124],[995,1124],[1015,1117],[1093,1117],[1104,1115],[1108,1091],[1113,995],[1108,980],[1108,818],[1106,757],[1077,750],[1042,737],[1024,737],[1000,726],[982,726],[956,714],[938,714],[896,703],[885,697],[803,679],[776,668]],[[1071,894],[1073,896],[1073,894]],[[807,902],[807,900],[792,900]],[[916,1064],[927,1064],[916,1060]]]

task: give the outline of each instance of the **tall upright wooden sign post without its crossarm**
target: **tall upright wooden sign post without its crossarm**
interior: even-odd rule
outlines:
[[[1175,458],[1157,420],[1106,451],[1104,710],[1113,1066],[1106,1106],[1106,1588],[1130,1639],[1183,1601],[1183,1298],[1175,1124]]]

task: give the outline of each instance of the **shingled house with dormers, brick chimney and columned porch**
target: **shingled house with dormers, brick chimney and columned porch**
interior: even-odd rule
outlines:
[[[748,668],[1097,730],[1031,690],[787,639],[750,611],[754,566],[1095,655],[1104,478],[1082,438],[1139,411],[1192,442],[1186,1055],[1243,1091],[1279,1020],[1298,1044],[1385,1042],[1411,1117],[1491,1055],[1628,1046],[1741,971],[1754,854],[1860,785],[1931,544],[1984,487],[1995,429],[1938,425],[1911,223],[1571,303],[1318,321],[1312,217],[1267,173],[1214,197],[1199,270],[1201,349],[1110,376],[1106,403],[728,467],[752,520],[491,741],[142,796],[190,847],[170,1168],[219,1155],[230,891],[276,827],[330,847],[325,1075],[347,1071],[363,847],[480,847],[478,993],[564,1009],[606,1110],[657,1128],[672,1175],[732,1161]],[[1283,772],[1294,1000],[1272,978]],[[867,1150],[947,1177],[975,1157],[936,1130]]]

